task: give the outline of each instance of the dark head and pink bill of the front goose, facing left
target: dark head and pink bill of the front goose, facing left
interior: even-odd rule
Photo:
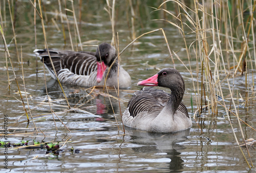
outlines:
[[[179,92],[182,96],[185,91],[185,84],[182,76],[176,69],[172,68],[162,69],[154,76],[139,81],[138,85],[165,87],[169,88],[172,92]]]

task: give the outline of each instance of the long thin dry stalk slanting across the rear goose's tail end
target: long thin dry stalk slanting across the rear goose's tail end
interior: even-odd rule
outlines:
[[[31,0],[30,0],[30,2],[31,2]],[[56,76],[56,79],[57,79],[57,81],[58,81],[58,83],[59,83],[59,85],[60,85],[60,88],[61,88],[61,90],[62,90],[62,93],[63,93],[63,95],[64,95],[64,97],[65,97],[65,99],[66,99],[66,101],[67,101],[67,104],[68,104],[68,106],[69,106],[69,109],[70,109],[69,101],[68,101],[67,96],[66,96],[66,94],[65,94],[65,92],[64,92],[64,90],[63,90],[63,88],[62,88],[62,85],[61,85],[59,79],[58,79],[57,73],[56,73],[56,71],[55,71],[55,68],[54,68],[54,65],[53,65],[53,62],[52,62],[51,55],[50,55],[50,53],[49,53],[49,48],[48,48],[47,40],[46,40],[46,32],[45,32],[44,18],[42,18],[42,10],[41,10],[41,5],[40,5],[39,3],[40,3],[40,0],[38,0],[38,6],[39,6],[39,9],[40,9],[40,13],[39,13],[37,10],[36,10],[36,11],[37,11],[37,13],[38,13],[38,15],[39,15],[39,17],[40,17],[40,19],[41,19],[42,32],[43,32],[43,34],[44,34],[44,39],[45,39],[45,46],[46,46],[46,49],[47,49],[47,52],[48,52],[48,56],[49,56],[50,61],[51,61],[51,64],[52,64],[52,68],[53,68],[54,74],[55,74],[55,76]],[[31,2],[31,4],[32,4],[33,7],[36,9],[36,7],[34,6],[34,4],[33,4],[32,2]]]

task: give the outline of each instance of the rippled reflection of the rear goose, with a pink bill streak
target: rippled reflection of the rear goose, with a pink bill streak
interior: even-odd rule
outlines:
[[[102,88],[96,88],[93,90],[93,92],[91,92],[92,89],[87,90],[88,88],[81,88],[63,83],[62,87],[71,107],[76,107],[92,114],[100,115],[104,119],[112,119],[112,115],[114,114],[113,110],[115,114],[120,112],[118,101],[110,97],[110,102],[108,94],[106,94],[106,91],[103,91]],[[45,85],[42,85],[41,91],[41,96],[46,97],[47,94]],[[57,101],[58,99],[62,99],[61,103],[60,101],[58,103],[63,105],[66,104],[61,88],[55,79],[51,78],[49,81],[47,81],[47,91],[52,100]],[[89,93],[90,95],[88,95]],[[116,97],[115,91],[109,91],[109,94]],[[127,93],[120,93],[121,98],[125,97],[126,95]]]

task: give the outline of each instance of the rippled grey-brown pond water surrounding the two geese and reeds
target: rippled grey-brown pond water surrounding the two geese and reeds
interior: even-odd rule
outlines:
[[[3,2],[2,7],[3,8]],[[129,25],[129,8],[125,6],[126,1],[117,2],[116,31],[119,34],[119,45],[122,50],[131,42]],[[79,11],[79,5],[74,2],[76,11]],[[182,35],[178,30],[162,21],[151,21],[150,19],[161,18],[160,12],[153,12],[150,6],[158,7],[158,2],[138,1],[137,6],[140,10],[140,18],[136,18],[135,30],[139,36],[148,31],[158,28],[164,28],[169,46],[172,50],[178,51],[184,48]],[[63,7],[63,6],[62,6]],[[68,4],[71,8],[71,5]],[[111,42],[112,29],[109,14],[104,10],[107,8],[105,1],[100,3],[82,2],[81,19],[79,31],[82,41],[89,41],[83,45],[95,45],[98,40],[101,42]],[[71,132],[54,116],[52,117],[44,79],[44,70],[42,63],[36,63],[36,57],[33,54],[35,47],[33,8],[29,2],[17,1],[16,4],[16,23],[15,32],[17,37],[18,50],[22,46],[24,61],[24,78],[26,92],[28,92],[28,102],[31,114],[34,117],[38,133],[34,129],[32,121],[26,122],[26,115],[23,109],[20,96],[17,91],[17,85],[14,80],[13,72],[8,61],[8,71],[10,74],[11,90],[9,94],[8,77],[6,71],[6,61],[3,42],[0,45],[0,76],[1,80],[1,117],[0,122],[4,124],[4,115],[8,115],[8,141],[18,142],[20,140],[29,140],[31,145],[33,140],[41,142],[60,141],[60,152],[56,155],[48,154],[46,149],[35,147],[27,148],[8,148],[8,169],[4,168],[4,148],[0,148],[0,171],[1,172],[35,172],[58,171],[58,172],[248,172],[248,166],[245,159],[236,144],[232,129],[230,127],[224,110],[220,107],[218,116],[205,114],[201,118],[193,119],[193,126],[187,131],[170,134],[156,134],[134,129],[125,128],[125,134],[122,131],[119,101],[116,99],[116,91],[111,89],[109,94],[114,96],[109,99],[106,91],[102,88],[96,88],[88,95],[92,89],[74,87],[63,84],[63,89],[68,97],[72,107],[68,109],[67,103],[63,97],[58,83],[47,73],[47,91],[52,100],[52,109],[58,115],[60,120]],[[48,23],[46,24],[47,42],[50,48],[71,50],[70,40],[66,28],[67,44],[64,44],[62,32],[58,32],[52,23],[52,18],[56,17],[58,9],[57,1],[48,1],[45,4]],[[138,9],[137,9],[138,10]],[[172,10],[172,9],[170,9]],[[1,9],[1,12],[3,10]],[[8,11],[8,4],[6,4]],[[127,16],[126,16],[127,14]],[[3,13],[2,13],[3,15]],[[78,12],[76,14],[78,15]],[[19,83],[20,90],[24,91],[22,69],[18,64],[10,15],[6,12],[7,20],[4,21],[4,31],[7,44],[11,53],[15,74]],[[72,21],[72,19],[71,19]],[[129,21],[129,22],[128,22]],[[44,48],[44,37],[41,31],[40,19],[37,16],[37,48]],[[61,28],[59,18],[56,20]],[[129,27],[127,27],[127,25]],[[74,32],[74,25],[71,22],[71,32]],[[67,27],[65,23],[65,27]],[[61,30],[61,29],[60,29]],[[188,38],[193,41],[194,38]],[[73,40],[75,42],[75,40]],[[95,50],[95,47],[83,47],[83,50]],[[179,57],[188,67],[186,51],[178,52]],[[121,64],[132,77],[130,88],[120,90],[120,106],[123,112],[126,109],[127,102],[136,90],[141,87],[137,82],[146,79],[158,72],[158,69],[173,67],[169,56],[164,37],[161,31],[148,34],[140,38],[137,43],[124,51],[121,56]],[[19,55],[20,57],[20,55]],[[188,112],[194,116],[195,98],[193,98],[194,109],[190,103],[191,93],[194,93],[191,75],[185,69],[179,60],[175,59],[176,68],[180,71],[185,80],[184,104]],[[196,76],[195,57],[190,62],[193,76]],[[38,68],[37,68],[38,66]],[[36,73],[38,69],[38,72]],[[244,76],[237,76],[235,79],[234,93],[244,90]],[[168,91],[169,92],[169,91]],[[228,96],[228,87],[223,84],[223,93]],[[244,96],[244,92],[241,93]],[[26,98],[25,103],[27,104]],[[252,99],[253,100],[253,99]],[[113,108],[112,108],[113,107]],[[28,107],[27,107],[28,109]],[[113,113],[113,110],[115,114]],[[250,109],[240,108],[240,117],[246,123],[255,124],[255,106],[252,104]],[[116,119],[118,125],[116,123]],[[54,122],[55,120],[55,122]],[[234,131],[242,144],[240,129],[238,128],[237,118],[231,116],[231,122]],[[56,131],[56,127],[57,131]],[[119,128],[118,128],[119,127]],[[1,126],[1,133],[4,125]],[[39,131],[42,132],[40,132]],[[255,138],[255,132],[248,126],[242,124],[245,139]],[[3,139],[3,138],[2,138]],[[70,152],[71,147],[79,149],[79,152]],[[246,149],[242,147],[246,158],[248,155]],[[249,152],[252,163],[255,164],[255,149],[249,146]],[[253,172],[253,168],[251,171]]]

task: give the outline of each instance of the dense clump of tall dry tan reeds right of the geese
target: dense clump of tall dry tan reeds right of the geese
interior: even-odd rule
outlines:
[[[253,71],[256,66],[253,65],[251,56],[251,54],[254,55],[254,62],[256,62],[253,31],[255,1],[253,1],[253,4],[252,1],[241,3],[239,0],[190,2],[193,5],[188,7],[183,1],[165,1],[157,10],[165,11],[169,14],[169,17],[172,17],[170,21],[168,20],[168,23],[175,26],[183,36],[188,61],[190,62],[192,56],[197,58],[196,76],[192,73],[190,63],[188,71],[192,79],[197,79],[197,82],[194,83],[193,80],[193,83],[199,115],[203,110],[206,96],[210,98],[207,103],[209,114],[218,116],[218,106],[223,106],[226,115],[229,115],[230,109],[227,109],[222,90],[222,84],[226,83],[231,97],[230,106],[232,105],[232,111],[238,117],[238,126],[245,142],[237,110],[238,104],[234,101],[236,96],[234,96],[233,86],[236,75],[245,75],[245,88],[241,92],[245,93],[243,97],[246,105],[248,105],[248,88],[252,90],[254,88]],[[178,15],[164,9],[164,5],[167,3],[176,6]],[[249,14],[245,16],[247,12]],[[231,19],[230,16],[234,17]],[[178,24],[173,23],[173,20],[176,20]],[[186,40],[190,36],[196,38],[192,43],[188,43]],[[251,47],[252,49],[250,49]],[[222,101],[219,102],[216,95],[221,96]],[[232,127],[233,124],[229,116],[227,118]],[[239,145],[233,127],[232,131]],[[247,164],[250,167],[248,162]]]

